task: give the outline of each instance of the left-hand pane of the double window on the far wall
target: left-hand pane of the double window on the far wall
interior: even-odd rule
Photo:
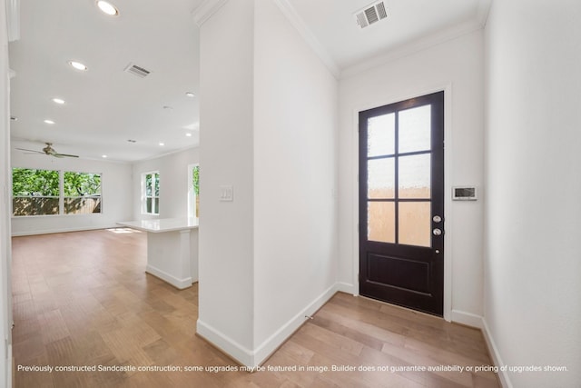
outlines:
[[[12,169],[12,208],[15,216],[59,214],[59,172]]]

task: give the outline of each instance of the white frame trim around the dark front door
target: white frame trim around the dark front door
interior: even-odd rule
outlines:
[[[420,95],[431,95],[444,91],[444,219],[446,222],[446,234],[444,234],[444,319],[451,322],[452,315],[452,242],[453,225],[452,219],[452,198],[450,184],[451,161],[452,161],[452,85],[440,85],[429,89],[422,89],[409,95],[391,95],[386,99],[360,105],[352,111],[352,184],[353,189],[353,229],[352,241],[353,251],[351,257],[353,274],[353,294],[359,295],[359,112],[376,108],[378,106],[395,104],[400,101],[409,100]]]

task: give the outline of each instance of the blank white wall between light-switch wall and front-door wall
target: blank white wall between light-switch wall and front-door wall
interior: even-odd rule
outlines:
[[[334,292],[338,82],[274,2],[255,4],[254,344],[266,356]]]

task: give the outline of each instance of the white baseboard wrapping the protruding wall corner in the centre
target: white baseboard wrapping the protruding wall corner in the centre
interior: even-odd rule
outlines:
[[[282,343],[284,343],[292,333],[296,332],[300,326],[308,319],[305,316],[311,316],[316,313],[323,304],[327,303],[330,298],[337,293],[338,285],[333,284],[325,292],[321,293],[314,301],[309,303],[305,308],[295,314],[291,320],[281,326],[279,330],[267,338],[255,350],[250,350],[240,343],[233,341],[224,333],[214,329],[207,323],[198,318],[196,332],[205,340],[228,354],[234,360],[249,368],[255,368],[263,363],[272,353],[274,353]]]

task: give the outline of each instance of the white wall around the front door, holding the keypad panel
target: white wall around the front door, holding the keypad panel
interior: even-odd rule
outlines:
[[[350,74],[350,72],[347,72]],[[445,315],[479,325],[482,309],[483,201],[452,203],[451,186],[483,184],[483,37],[480,31],[340,80],[340,266],[345,291],[359,293],[359,111],[446,90]],[[484,190],[482,190],[484,189]]]

